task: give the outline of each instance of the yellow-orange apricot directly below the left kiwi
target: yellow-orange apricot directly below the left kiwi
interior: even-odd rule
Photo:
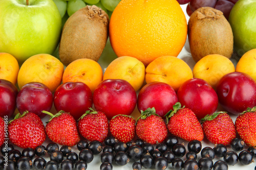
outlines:
[[[91,59],[77,59],[71,62],[63,72],[62,82],[83,82],[92,92],[102,81],[103,72],[99,63]]]

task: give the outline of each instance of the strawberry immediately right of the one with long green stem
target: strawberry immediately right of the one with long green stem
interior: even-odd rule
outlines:
[[[103,142],[109,132],[108,118],[103,112],[90,110],[78,119],[78,131],[88,140]]]

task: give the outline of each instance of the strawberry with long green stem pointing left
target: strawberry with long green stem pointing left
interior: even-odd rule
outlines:
[[[46,124],[46,134],[50,140],[69,147],[73,147],[79,142],[80,136],[76,120],[72,115],[62,110],[55,115],[47,111],[42,112],[51,116]]]

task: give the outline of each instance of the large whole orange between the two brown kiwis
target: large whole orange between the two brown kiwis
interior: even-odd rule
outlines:
[[[160,56],[179,55],[187,21],[176,0],[122,0],[111,15],[109,33],[118,57],[135,57],[147,66]]]

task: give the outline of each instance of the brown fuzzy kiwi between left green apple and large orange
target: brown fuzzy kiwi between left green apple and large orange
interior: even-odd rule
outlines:
[[[64,65],[81,58],[98,61],[109,37],[109,16],[97,6],[86,6],[66,21],[59,43]]]

